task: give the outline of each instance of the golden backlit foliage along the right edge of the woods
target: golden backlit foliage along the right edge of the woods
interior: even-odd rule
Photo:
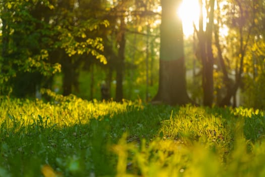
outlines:
[[[263,95],[259,91],[263,71],[258,68],[262,68],[264,59],[264,5],[263,1],[228,1],[220,5],[219,14],[220,27],[225,25],[229,30],[226,42],[222,42],[227,76],[235,82],[229,84],[227,92],[236,94],[237,87],[240,88],[244,92],[241,104],[255,108],[264,107],[264,103],[258,101],[261,99],[257,99]],[[224,83],[227,84],[225,80]]]

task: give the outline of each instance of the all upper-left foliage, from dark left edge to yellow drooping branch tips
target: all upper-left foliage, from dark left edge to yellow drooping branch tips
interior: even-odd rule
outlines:
[[[102,55],[102,38],[87,35],[101,26],[107,27],[107,20],[81,18],[78,6],[71,1],[5,1],[0,6],[3,22],[0,83],[7,86],[0,90],[2,94],[13,89],[18,96],[16,82],[40,75],[28,91],[34,94],[36,86],[48,85],[48,79],[61,71],[66,56],[75,56],[72,63],[89,55],[107,63]]]

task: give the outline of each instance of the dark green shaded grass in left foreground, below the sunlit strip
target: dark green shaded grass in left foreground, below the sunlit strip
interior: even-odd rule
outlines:
[[[169,119],[169,106],[128,106],[126,111],[89,119],[85,124],[57,127],[36,121],[1,125],[1,173],[6,176],[41,176],[43,165],[58,176],[114,176],[117,155],[112,146],[127,132],[127,141],[159,136],[161,122]],[[41,120],[41,117],[39,117]],[[46,169],[46,168],[45,168]]]

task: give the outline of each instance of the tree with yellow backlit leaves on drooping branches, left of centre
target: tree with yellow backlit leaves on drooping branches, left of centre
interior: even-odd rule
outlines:
[[[54,15],[55,26],[59,27],[58,47],[61,50],[60,63],[63,72],[63,95],[79,90],[78,77],[86,60],[99,59],[107,64],[102,55],[103,41],[99,28],[109,23],[102,19],[100,8],[103,1],[91,0],[60,1]]]

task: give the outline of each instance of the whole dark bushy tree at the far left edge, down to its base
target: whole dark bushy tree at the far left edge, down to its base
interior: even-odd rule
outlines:
[[[49,19],[41,16],[48,15],[54,6],[48,1],[34,4],[9,0],[0,6],[3,22],[0,94],[13,90],[15,96],[32,96],[42,76],[49,77],[60,71],[60,64],[49,62],[54,31],[50,31]]]

